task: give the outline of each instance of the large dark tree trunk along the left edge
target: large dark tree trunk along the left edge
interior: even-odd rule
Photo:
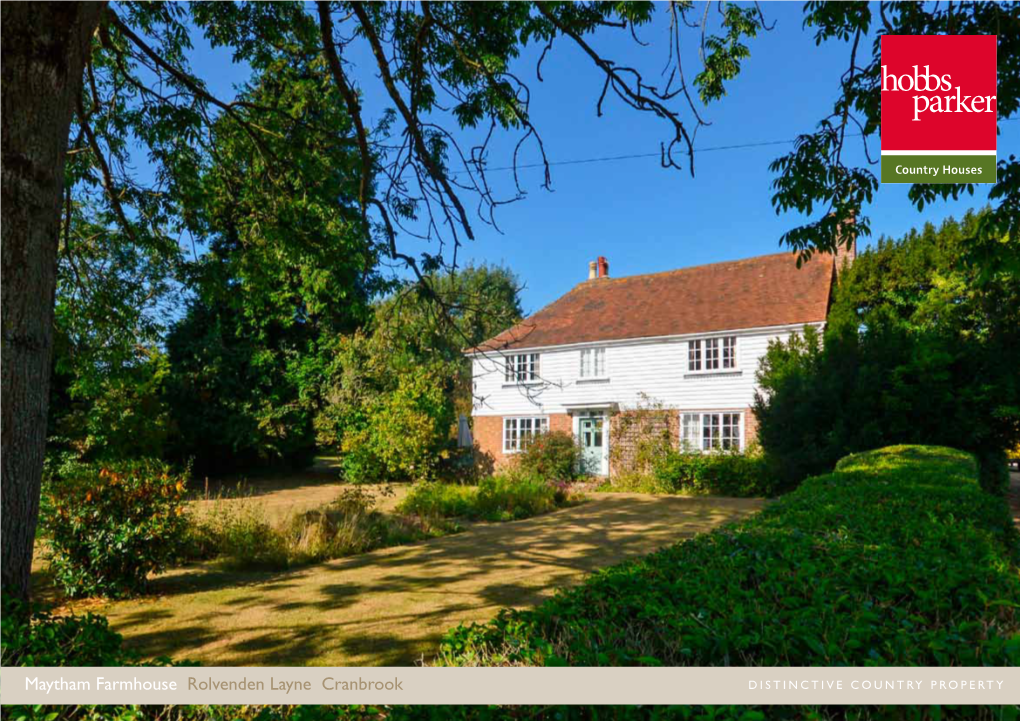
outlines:
[[[0,87],[2,593],[29,597],[46,450],[64,152],[102,3],[5,2]]]

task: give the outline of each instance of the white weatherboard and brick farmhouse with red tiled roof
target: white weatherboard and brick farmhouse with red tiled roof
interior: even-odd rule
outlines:
[[[613,444],[628,442],[622,420],[649,405],[684,448],[746,448],[759,359],[769,341],[824,325],[836,265],[854,253],[620,278],[600,257],[588,280],[467,352],[478,450],[499,466],[537,433],[566,430],[588,470],[608,475]]]

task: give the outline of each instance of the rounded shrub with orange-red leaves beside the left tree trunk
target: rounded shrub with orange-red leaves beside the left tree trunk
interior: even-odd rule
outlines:
[[[156,460],[79,465],[50,484],[51,568],[71,597],[122,597],[175,559],[187,476]]]

